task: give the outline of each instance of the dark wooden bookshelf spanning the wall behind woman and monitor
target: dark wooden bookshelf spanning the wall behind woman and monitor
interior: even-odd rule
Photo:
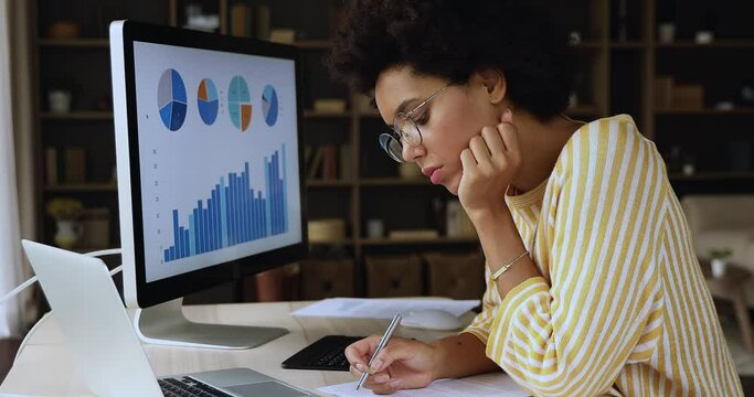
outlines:
[[[694,174],[684,175],[680,170],[669,168],[671,183],[679,194],[719,191],[720,184],[729,184],[736,190],[754,190],[754,164],[736,170],[714,165],[730,157],[728,144],[731,137],[754,151],[754,133],[747,129],[754,121],[754,106],[736,106],[730,110],[714,108],[716,98],[722,98],[733,82],[728,74],[710,73],[710,66],[704,63],[709,56],[731,60],[732,63],[736,56],[745,54],[743,65],[734,67],[731,73],[746,75],[745,69],[754,67],[754,57],[751,56],[754,55],[754,31],[747,24],[733,21],[725,23],[725,31],[720,32],[718,40],[697,44],[689,39],[693,18],[686,15],[701,12],[701,2],[694,0],[683,8],[682,15],[677,15],[679,40],[659,43],[657,21],[665,18],[658,15],[661,14],[660,0],[627,2],[625,17],[619,15],[619,2],[577,0],[562,14],[581,37],[573,49],[582,73],[576,81],[575,101],[566,114],[588,121],[627,112],[634,116],[639,130],[657,142],[662,154],[667,155],[679,144],[698,151],[697,157],[701,160]],[[59,181],[52,184],[44,172],[40,172],[38,194],[41,203],[56,196],[73,196],[86,206],[109,208],[110,245],[119,244],[117,187],[111,180],[115,165],[113,112],[107,101],[110,95],[108,41],[105,37],[107,21],[131,18],[182,25],[185,6],[201,4],[205,11],[219,14],[216,31],[227,33],[232,31],[229,20],[234,3],[235,0],[135,0],[115,7],[95,0],[65,6],[36,1],[38,164],[40,170],[44,170],[45,148],[87,148],[84,182]],[[397,164],[389,160],[376,143],[379,133],[385,130],[380,115],[374,109],[354,105],[360,103],[357,95],[328,78],[321,58],[331,45],[328,37],[336,18],[331,13],[332,2],[285,0],[253,3],[264,3],[269,8],[272,28],[296,31],[294,44],[301,50],[306,75],[301,98],[305,144],[311,148],[336,146],[336,163],[347,159],[351,164],[348,175],[339,170],[322,178],[318,172],[309,175],[307,171],[309,217],[340,218],[347,226],[342,239],[312,244],[312,253],[327,256],[334,251],[352,258],[353,293],[362,296],[367,291],[364,258],[368,256],[478,249],[476,238],[448,237],[444,233],[442,212],[454,197],[426,179],[401,179]],[[735,10],[725,1],[718,7],[729,12]],[[73,19],[79,23],[82,36],[50,39],[46,26],[59,19]],[[687,67],[694,62],[698,65]],[[709,94],[703,106],[668,108],[656,104],[655,79],[662,75],[675,75],[681,84],[703,84],[705,94]],[[73,108],[68,112],[53,112],[47,105],[49,90],[59,85],[74,92]],[[342,99],[348,106],[342,111],[315,110],[314,103],[320,98]],[[710,133],[710,130],[715,133]],[[707,148],[716,152],[709,154],[704,151]],[[44,214],[44,205],[40,206],[38,215],[40,239],[50,243],[54,224]],[[440,237],[432,240],[369,237],[365,225],[373,219],[383,222],[384,236],[394,229],[435,228],[440,230]]]

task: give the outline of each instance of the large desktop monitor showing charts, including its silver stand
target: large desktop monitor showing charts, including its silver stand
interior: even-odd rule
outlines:
[[[150,343],[244,348],[287,331],[191,323],[182,297],[306,256],[295,47],[110,24],[124,294]]]

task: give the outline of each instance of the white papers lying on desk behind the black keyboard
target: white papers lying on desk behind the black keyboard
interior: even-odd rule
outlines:
[[[434,309],[460,316],[477,305],[478,300],[331,298],[301,308],[291,315],[392,319],[396,313]]]

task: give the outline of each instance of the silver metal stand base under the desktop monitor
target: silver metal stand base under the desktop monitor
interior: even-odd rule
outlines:
[[[182,347],[251,348],[288,333],[266,326],[193,323],[181,310],[183,298],[147,309],[134,318],[136,332],[144,342]]]

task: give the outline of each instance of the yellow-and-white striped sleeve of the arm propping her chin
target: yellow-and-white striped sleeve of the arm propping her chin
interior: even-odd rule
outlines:
[[[622,118],[584,126],[564,150],[542,215],[552,287],[535,277],[505,297],[487,355],[535,395],[594,396],[659,340],[665,169]]]

